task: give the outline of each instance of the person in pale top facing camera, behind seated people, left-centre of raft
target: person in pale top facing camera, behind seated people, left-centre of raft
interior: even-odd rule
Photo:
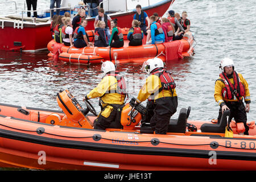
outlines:
[[[96,16],[95,21],[94,21],[94,28],[96,28],[98,21],[105,22],[104,31],[105,31],[106,37],[108,38],[107,43],[109,44],[111,34],[110,34],[109,26],[108,26],[108,21],[111,22],[112,19],[110,18],[109,15],[105,14],[104,12],[105,11],[103,8],[98,9],[98,15]]]

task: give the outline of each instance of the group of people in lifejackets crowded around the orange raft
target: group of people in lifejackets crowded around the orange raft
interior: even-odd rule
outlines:
[[[127,34],[130,40],[129,46],[141,46],[144,35],[147,35],[146,44],[159,44],[180,40],[183,34],[190,30],[190,21],[187,19],[187,12],[183,11],[182,18],[173,10],[168,11],[167,18],[160,18],[154,13],[150,18],[137,5],[137,13],[134,15],[131,28]],[[146,20],[148,26],[146,26]],[[112,34],[110,34],[110,28]],[[80,9],[78,14],[71,21],[68,12],[61,15],[54,15],[51,23],[52,38],[57,43],[63,43],[65,46],[82,47],[123,47],[123,34],[121,28],[117,26],[117,19],[111,19],[104,13],[104,9],[98,9],[98,15],[94,22],[94,45],[89,42],[89,36],[86,34],[85,10]]]

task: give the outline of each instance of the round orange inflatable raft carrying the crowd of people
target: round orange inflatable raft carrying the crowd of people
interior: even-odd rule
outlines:
[[[123,31],[128,31],[128,29],[123,28]],[[90,40],[93,40],[94,31],[86,31],[90,36]],[[92,35],[91,35],[92,34]],[[127,35],[127,34],[126,34]],[[174,59],[179,59],[187,56],[193,55],[193,36],[191,32],[187,32],[182,40],[177,40],[174,42],[168,42],[163,44],[149,44],[142,46],[127,46],[129,40],[125,40],[125,46],[121,48],[109,48],[109,47],[61,47],[61,52],[59,59],[69,63],[80,63],[77,57],[72,59],[72,53],[82,54],[82,55],[93,55],[100,56],[104,61],[118,61],[118,63],[143,63],[145,60],[158,56],[163,61],[170,61]],[[54,40],[48,43],[48,50],[52,51],[52,44],[55,44]],[[68,54],[69,55],[68,55]],[[70,57],[67,59],[67,57]],[[97,57],[96,57],[97,59]],[[101,61],[84,62],[82,64],[88,63],[101,63]]]

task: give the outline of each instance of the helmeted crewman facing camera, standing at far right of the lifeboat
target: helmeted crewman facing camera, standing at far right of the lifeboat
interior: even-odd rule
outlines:
[[[243,123],[245,135],[249,135],[249,127],[246,125],[246,112],[250,110],[250,92],[248,84],[241,73],[234,71],[234,62],[225,57],[221,60],[220,68],[222,73],[215,82],[214,99],[220,105],[218,121],[225,110],[230,110],[229,123],[232,118],[236,123]],[[243,99],[245,104],[243,104]]]

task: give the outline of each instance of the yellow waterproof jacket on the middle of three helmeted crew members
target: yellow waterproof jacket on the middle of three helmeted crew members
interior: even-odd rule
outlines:
[[[150,75],[147,78],[146,83],[142,86],[141,90],[139,90],[137,102],[141,103],[145,101],[147,98],[150,100],[157,100],[158,98],[162,97],[177,97],[175,89],[172,89],[172,92],[174,93],[173,95],[171,90],[163,89],[159,93],[158,91],[161,87],[162,84],[160,78],[156,75]],[[151,96],[152,93],[154,93],[154,96]]]

